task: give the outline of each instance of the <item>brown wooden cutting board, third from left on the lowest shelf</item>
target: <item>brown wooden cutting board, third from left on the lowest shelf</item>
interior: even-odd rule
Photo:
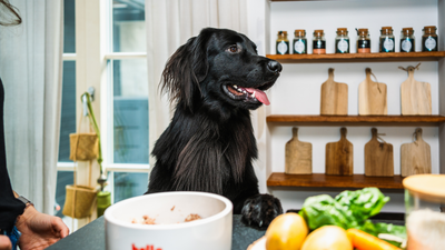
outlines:
[[[365,176],[393,177],[394,153],[393,146],[377,140],[377,129],[370,130],[373,138],[365,144]]]

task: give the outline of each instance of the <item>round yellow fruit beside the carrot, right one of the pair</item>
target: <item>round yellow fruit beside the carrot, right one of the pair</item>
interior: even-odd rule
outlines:
[[[310,232],[301,250],[353,250],[346,230],[337,226],[324,226]]]

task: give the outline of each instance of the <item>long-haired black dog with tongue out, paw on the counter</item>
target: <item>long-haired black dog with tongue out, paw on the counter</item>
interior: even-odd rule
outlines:
[[[254,227],[283,213],[278,199],[258,191],[249,111],[269,103],[264,91],[280,71],[281,64],[258,56],[255,43],[233,30],[207,28],[181,46],[162,72],[161,88],[176,111],[152,150],[157,162],[147,193],[218,193]]]

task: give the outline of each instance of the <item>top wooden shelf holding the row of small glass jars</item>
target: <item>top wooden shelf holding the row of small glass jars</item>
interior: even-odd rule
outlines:
[[[445,51],[393,52],[393,53],[326,53],[326,54],[266,54],[267,58],[287,63],[320,62],[390,62],[390,61],[438,61]]]

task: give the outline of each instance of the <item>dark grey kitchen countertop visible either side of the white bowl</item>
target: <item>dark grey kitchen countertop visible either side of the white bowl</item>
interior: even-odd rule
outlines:
[[[255,240],[266,233],[266,230],[257,230],[246,227],[241,216],[234,214],[234,229],[231,238],[233,250],[246,250]],[[91,223],[71,233],[67,238],[47,248],[48,250],[105,250],[105,220],[100,217]]]

